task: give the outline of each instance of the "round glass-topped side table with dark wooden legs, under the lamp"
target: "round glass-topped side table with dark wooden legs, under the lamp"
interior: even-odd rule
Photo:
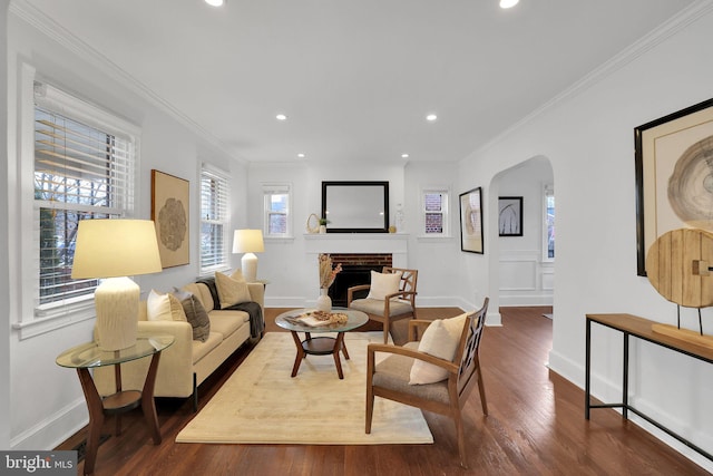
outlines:
[[[158,417],[156,416],[156,404],[154,402],[154,385],[160,352],[173,343],[174,338],[172,336],[145,336],[139,337],[136,340],[136,344],[127,349],[106,351],[99,349],[97,342],[87,342],[72,347],[57,357],[58,366],[77,369],[81,390],[85,394],[89,409],[89,434],[87,436],[84,468],[86,475],[94,473],[105,416],[116,416],[116,435],[119,435],[121,433],[120,415],[140,405],[154,444],[160,444]],[[121,390],[121,363],[149,356],[153,357],[143,390]],[[102,399],[97,391],[89,369],[105,366],[114,366],[115,368],[116,394]]]

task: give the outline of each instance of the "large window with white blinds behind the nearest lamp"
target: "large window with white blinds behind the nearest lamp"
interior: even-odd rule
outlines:
[[[133,210],[136,129],[50,85],[33,85],[35,315],[91,309],[98,280],[72,280],[81,220]]]

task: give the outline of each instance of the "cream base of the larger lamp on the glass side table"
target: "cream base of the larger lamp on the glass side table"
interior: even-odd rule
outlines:
[[[129,278],[109,278],[96,289],[97,341],[101,350],[136,344],[139,294],[138,284]]]

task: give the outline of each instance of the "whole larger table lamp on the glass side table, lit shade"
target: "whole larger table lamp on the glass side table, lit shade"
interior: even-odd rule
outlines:
[[[100,279],[94,301],[102,350],[136,343],[140,289],[131,279],[162,271],[150,220],[82,220],[77,230],[72,279]]]

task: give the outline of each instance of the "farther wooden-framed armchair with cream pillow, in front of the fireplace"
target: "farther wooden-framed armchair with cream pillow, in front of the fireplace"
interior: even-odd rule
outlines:
[[[419,272],[401,268],[384,268],[382,273],[371,272],[371,284],[346,290],[346,307],[362,311],[369,319],[383,323],[383,343],[389,341],[391,322],[416,318],[416,284]],[[354,292],[369,290],[364,299],[354,299]]]

